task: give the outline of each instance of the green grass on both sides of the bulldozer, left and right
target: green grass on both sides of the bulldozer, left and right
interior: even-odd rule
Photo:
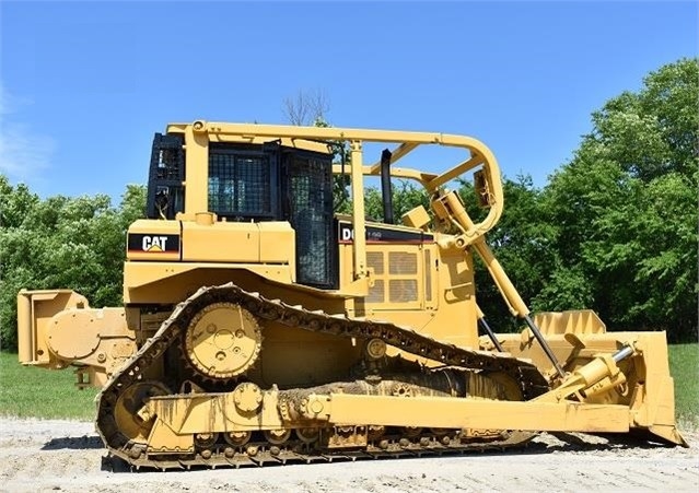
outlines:
[[[675,409],[683,429],[699,427],[699,344],[669,347]],[[0,353],[0,415],[92,420],[97,389],[78,390],[70,369],[25,367],[16,354]]]

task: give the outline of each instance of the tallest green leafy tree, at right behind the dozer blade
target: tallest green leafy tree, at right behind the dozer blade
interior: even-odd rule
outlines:
[[[697,333],[699,66],[650,73],[592,115],[545,190],[557,258],[536,305],[587,305],[611,328]]]

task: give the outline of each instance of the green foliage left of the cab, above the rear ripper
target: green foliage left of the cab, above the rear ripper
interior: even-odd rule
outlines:
[[[40,200],[24,185],[0,175],[0,337],[16,348],[16,294],[20,289],[69,287],[93,306],[121,303],[126,230],[142,215],[145,190],[128,186],[120,208],[108,197]]]

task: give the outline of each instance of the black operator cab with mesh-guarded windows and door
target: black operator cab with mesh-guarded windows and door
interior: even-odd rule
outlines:
[[[337,237],[333,154],[319,152],[324,145],[316,142],[293,144],[211,142],[208,209],[219,221],[288,221],[295,231],[296,282],[338,289],[338,251],[331,240]],[[149,219],[175,220],[184,212],[185,176],[184,136],[156,133],[148,181]]]

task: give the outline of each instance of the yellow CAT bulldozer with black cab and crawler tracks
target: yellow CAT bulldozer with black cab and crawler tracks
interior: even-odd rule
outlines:
[[[463,161],[440,175],[395,165],[428,145]],[[447,188],[466,174],[478,222]],[[348,214],[334,211],[338,175]],[[382,221],[365,218],[368,177]],[[394,220],[392,178],[421,184],[431,210]],[[591,310],[531,314],[486,242],[502,210],[497,161],[473,138],[168,125],[127,233],[124,306],[23,290],[19,359],[100,387],[96,430],[135,468],[461,453],[540,431],[686,445],[665,333],[607,332]],[[475,256],[520,333],[488,326]]]

